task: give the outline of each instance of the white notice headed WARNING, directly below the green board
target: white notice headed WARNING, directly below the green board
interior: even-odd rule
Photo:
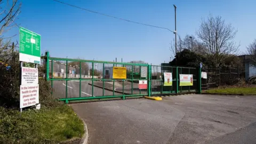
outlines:
[[[38,84],[38,69],[37,68],[21,68],[21,85],[36,85]]]

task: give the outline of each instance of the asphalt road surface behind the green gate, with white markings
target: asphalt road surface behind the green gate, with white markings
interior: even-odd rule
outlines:
[[[81,97],[92,97],[92,86],[90,81],[81,81]],[[68,98],[79,97],[79,81],[68,81]],[[120,93],[114,93],[121,95]],[[93,96],[98,97],[103,95],[103,89],[93,87]],[[104,90],[104,95],[113,95],[113,91]],[[53,81],[53,98],[66,98],[66,81]]]

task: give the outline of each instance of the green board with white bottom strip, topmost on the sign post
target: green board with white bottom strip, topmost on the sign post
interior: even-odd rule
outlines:
[[[20,61],[40,64],[41,35],[20,27]]]

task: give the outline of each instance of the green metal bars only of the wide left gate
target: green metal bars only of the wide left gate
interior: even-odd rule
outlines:
[[[51,73],[52,73],[52,76],[53,76],[53,61],[54,60],[62,60],[62,61],[66,61],[66,78],[50,78],[50,60],[52,61],[51,62]],[[106,82],[106,81],[109,81],[109,82],[113,82],[115,83],[115,81],[122,81],[123,82],[123,93],[121,95],[115,95],[115,85],[113,85],[113,95],[108,95],[108,96],[104,96],[102,94],[102,96],[95,96],[95,97],[81,97],[81,81],[91,81],[92,82],[92,94],[93,95],[93,87],[94,87],[94,84],[93,82],[94,81],[98,81],[99,79],[97,78],[90,78],[90,79],[84,79],[84,78],[81,78],[81,73],[79,74],[79,78],[68,78],[68,61],[76,61],[76,62],[79,62],[79,71],[81,72],[81,62],[90,62],[92,63],[92,76],[94,76],[94,63],[102,63],[103,66],[104,64],[113,64],[113,66],[115,65],[128,65],[128,66],[131,66],[132,70],[133,70],[133,67],[134,66],[140,66],[140,69],[141,67],[147,67],[147,79],[133,79],[133,73],[132,73],[132,79],[104,79],[104,77],[102,77],[102,79],[100,79],[100,81],[103,81],[103,82]],[[108,98],[121,98],[123,100],[125,100],[126,97],[144,97],[145,95],[148,95],[150,97],[150,79],[149,79],[149,76],[150,76],[150,65],[148,64],[143,64],[143,63],[125,63],[125,62],[108,62],[108,61],[94,61],[94,60],[78,60],[78,59],[68,59],[68,58],[53,58],[51,57],[50,58],[50,54],[49,52],[46,52],[46,80],[47,81],[51,81],[51,87],[53,88],[53,81],[66,81],[66,98],[60,98],[59,100],[60,101],[65,101],[66,103],[68,103],[68,101],[71,101],[71,100],[92,100],[92,99],[108,99]],[[104,71],[103,71],[104,73]],[[140,71],[141,73],[141,71]],[[79,97],[76,97],[76,98],[68,98],[68,81],[72,81],[72,80],[77,80],[79,81]],[[133,89],[131,89],[132,91],[132,94],[124,94],[124,82],[125,81],[132,81],[132,87],[133,87],[133,81],[140,81],[140,80],[146,80],[148,81],[148,89],[147,89],[147,94],[143,94],[141,93],[140,91],[140,94],[133,94]],[[103,91],[105,91],[105,87],[104,87],[104,84],[103,84]]]

